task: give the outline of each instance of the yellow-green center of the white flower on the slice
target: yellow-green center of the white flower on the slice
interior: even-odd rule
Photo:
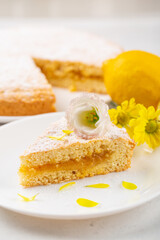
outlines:
[[[84,111],[80,115],[80,121],[82,125],[85,125],[87,127],[95,128],[96,122],[98,122],[99,116],[95,109],[90,111]]]

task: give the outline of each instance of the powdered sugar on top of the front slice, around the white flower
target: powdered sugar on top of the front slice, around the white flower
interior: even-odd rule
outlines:
[[[62,130],[67,130],[67,120],[62,118],[61,120],[54,122],[45,133],[40,136],[29,148],[26,150],[24,155],[28,155],[35,152],[48,151],[52,149],[58,149],[61,147],[67,147],[74,143],[87,143],[89,141],[94,141],[97,139],[116,139],[125,138],[128,139],[129,136],[124,129],[120,129],[115,125],[111,125],[109,131],[103,137],[97,137],[90,140],[85,140],[78,137],[75,132],[63,138],[63,140],[53,140],[48,136],[59,137],[63,135]]]

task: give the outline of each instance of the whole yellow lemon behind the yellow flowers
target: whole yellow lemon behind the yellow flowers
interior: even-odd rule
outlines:
[[[160,101],[160,57],[143,51],[123,52],[103,63],[104,82],[112,100],[135,98],[146,107]]]

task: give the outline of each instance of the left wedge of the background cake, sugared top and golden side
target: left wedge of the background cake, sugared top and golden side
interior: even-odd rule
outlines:
[[[55,111],[52,87],[30,57],[3,56],[0,66],[1,116]]]

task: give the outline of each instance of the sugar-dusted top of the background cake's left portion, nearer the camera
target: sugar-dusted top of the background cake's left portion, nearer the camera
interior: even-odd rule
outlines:
[[[31,58],[0,57],[0,94],[3,94],[3,97],[19,91],[31,96],[33,90],[39,89],[51,89],[51,86]]]

